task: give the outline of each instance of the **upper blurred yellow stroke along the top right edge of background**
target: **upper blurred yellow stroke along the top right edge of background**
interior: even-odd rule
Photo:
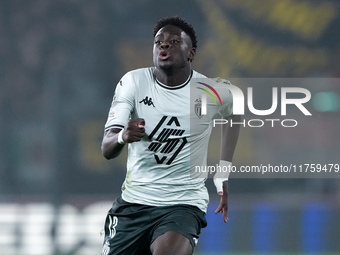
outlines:
[[[319,38],[336,18],[335,6],[327,1],[223,0],[223,4],[227,8],[241,10],[254,20],[291,31],[305,39]]]

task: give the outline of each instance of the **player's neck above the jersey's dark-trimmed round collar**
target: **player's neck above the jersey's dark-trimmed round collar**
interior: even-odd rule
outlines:
[[[167,86],[177,86],[185,83],[191,75],[191,68],[186,68],[183,70],[163,70],[156,68],[155,70],[156,78],[159,82]]]

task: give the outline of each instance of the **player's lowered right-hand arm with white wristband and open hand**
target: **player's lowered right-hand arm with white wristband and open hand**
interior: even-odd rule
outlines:
[[[240,122],[240,115],[231,115],[228,120],[227,125],[222,126],[222,142],[221,142],[221,157],[220,166],[231,167],[232,160],[234,156],[234,151],[236,148],[240,125],[230,125],[233,123]],[[220,204],[216,209],[215,213],[221,212],[223,214],[223,221],[228,221],[228,177],[229,174],[223,174],[221,176],[215,175],[214,183],[217,188],[218,195],[220,196]]]

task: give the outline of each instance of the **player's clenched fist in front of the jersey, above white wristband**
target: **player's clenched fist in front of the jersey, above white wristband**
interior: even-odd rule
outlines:
[[[131,119],[123,131],[122,138],[126,143],[139,142],[145,135],[145,120]]]

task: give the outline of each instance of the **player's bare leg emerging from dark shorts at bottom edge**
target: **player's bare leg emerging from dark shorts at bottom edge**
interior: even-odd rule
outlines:
[[[150,249],[152,255],[191,255],[193,252],[189,239],[175,231],[157,237]]]

